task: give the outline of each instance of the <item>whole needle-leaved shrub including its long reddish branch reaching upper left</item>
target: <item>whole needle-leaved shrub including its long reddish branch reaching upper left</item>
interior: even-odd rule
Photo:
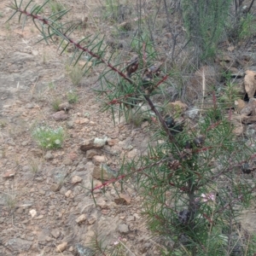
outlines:
[[[103,110],[110,110],[113,116],[119,113],[129,117],[131,112],[137,113],[147,105],[143,111],[154,120],[157,131],[153,140],[158,143],[148,148],[148,156],[123,165],[117,177],[90,189],[92,195],[95,189],[104,189],[108,183],[124,183],[128,177],[137,182],[144,198],[143,213],[148,226],[165,241],[164,255],[251,255],[253,242],[241,239],[237,233],[242,232],[238,224],[241,210],[248,207],[255,190],[255,184],[246,178],[251,172],[255,153],[253,148],[233,135],[231,112],[229,119],[224,118],[213,94],[213,108],[201,115],[194,128],[184,123],[177,124],[170,116],[163,117],[152,98],[161,93],[162,84],[172,73],[160,73],[158,54],[148,39],[142,34],[134,38],[132,44],[136,55],[127,55],[125,60],[113,65],[114,53],[105,59],[106,48],[99,36],[78,42],[71,38],[73,27],[58,22],[67,11],[61,10],[50,18],[42,18],[38,16],[42,7],[26,11],[31,3],[21,9],[22,1],[20,5],[15,1],[12,8],[20,17],[31,17],[36,26],[39,24],[38,29],[46,42],[54,35],[60,37],[60,47],[66,42],[62,52],[68,44],[73,44],[74,65],[82,55],[94,65],[105,65],[106,69],[100,76],[101,88],[97,90],[104,102]],[[198,8],[202,8],[202,2],[198,0],[198,3]],[[213,7],[220,8],[212,3]],[[200,15],[201,21],[206,19],[206,14],[211,15],[207,10]],[[218,21],[218,15],[212,19]],[[206,46],[218,33],[211,26],[206,27],[211,36],[203,38],[201,50],[208,55]],[[202,35],[206,36],[206,32]],[[96,241],[99,253],[107,255],[105,248]]]

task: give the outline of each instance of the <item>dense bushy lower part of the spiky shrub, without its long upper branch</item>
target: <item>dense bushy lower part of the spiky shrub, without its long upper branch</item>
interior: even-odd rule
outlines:
[[[160,161],[144,171],[140,184],[150,228],[172,241],[165,255],[232,255],[235,245],[243,252],[247,243],[235,235],[255,189],[239,177],[253,151],[236,140],[230,121],[221,116],[216,106],[196,132],[178,133],[175,143],[166,139],[143,160],[143,166]]]

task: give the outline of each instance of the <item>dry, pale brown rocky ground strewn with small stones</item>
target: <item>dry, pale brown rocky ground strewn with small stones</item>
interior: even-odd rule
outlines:
[[[101,103],[92,91],[99,71],[91,70],[80,86],[74,86],[67,75],[70,55],[59,56],[53,44],[35,44],[40,35],[32,22],[23,32],[17,17],[4,23],[12,14],[7,4],[9,0],[0,3],[0,254],[89,256],[86,246],[98,235],[113,247],[121,238],[131,255],[159,255],[140,215],[141,198],[131,183],[125,184],[121,200],[112,184],[105,195],[96,189],[97,206],[88,193],[92,185],[101,185],[99,166],[118,172],[124,156],[130,160],[145,152],[148,122],[134,126],[122,119],[113,125],[112,113],[100,111]],[[69,4],[76,10],[71,19],[82,20],[79,1]],[[90,9],[94,7],[92,3]],[[241,56],[238,65],[235,57],[229,58],[220,61],[235,77],[256,65],[242,62]],[[67,103],[70,91],[79,96],[78,102]],[[247,107],[241,101],[239,114]],[[64,110],[57,112],[55,102],[63,103]],[[255,108],[252,102],[249,106]],[[243,111],[245,120],[251,118],[252,110]],[[246,125],[240,115],[238,119],[241,136]],[[64,129],[61,149],[38,147],[32,131],[40,125]],[[81,150],[96,137],[107,140],[104,147]],[[253,207],[245,212],[244,225],[251,231],[256,230],[254,216]]]

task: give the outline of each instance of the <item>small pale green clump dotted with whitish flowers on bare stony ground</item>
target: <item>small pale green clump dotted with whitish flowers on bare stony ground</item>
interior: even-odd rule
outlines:
[[[61,148],[64,141],[64,131],[62,127],[53,129],[47,126],[40,126],[32,132],[32,137],[41,148]]]

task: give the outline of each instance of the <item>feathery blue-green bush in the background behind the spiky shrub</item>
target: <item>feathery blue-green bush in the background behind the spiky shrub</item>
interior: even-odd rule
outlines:
[[[182,0],[183,20],[195,55],[201,60],[212,57],[229,17],[231,0]]]

